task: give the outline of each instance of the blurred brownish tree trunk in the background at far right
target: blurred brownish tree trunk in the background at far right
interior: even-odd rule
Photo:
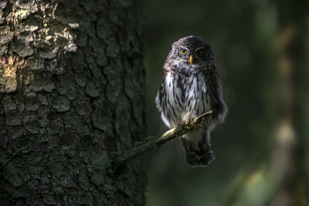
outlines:
[[[280,29],[276,79],[280,121],[273,147],[278,188],[271,205],[305,206],[309,204],[308,125],[302,126],[308,118],[305,109],[308,104],[307,87],[303,87],[308,82],[308,68],[302,61],[307,60],[305,37],[309,4],[292,0],[274,2]],[[304,90],[306,92],[302,94]]]

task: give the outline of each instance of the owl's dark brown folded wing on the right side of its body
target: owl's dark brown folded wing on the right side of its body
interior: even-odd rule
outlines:
[[[223,101],[218,71],[214,63],[210,62],[208,68],[204,69],[203,72],[208,83],[207,94],[210,96],[210,104],[214,111],[212,116],[215,117],[218,122],[222,122],[226,116],[227,107]]]

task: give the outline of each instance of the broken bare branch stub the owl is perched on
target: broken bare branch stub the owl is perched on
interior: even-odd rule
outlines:
[[[146,152],[149,152],[152,149],[156,149],[161,145],[165,144],[166,142],[171,141],[176,137],[179,137],[191,130],[196,130],[197,128],[202,127],[203,121],[206,119],[207,116],[210,116],[212,112],[213,111],[209,111],[197,117],[189,125],[186,125],[187,128],[184,128],[184,125],[180,124],[162,135],[146,138],[144,142],[139,143],[139,145],[133,147],[132,149],[129,149],[122,154],[116,155],[113,159],[113,165],[123,165],[132,158],[138,157]]]

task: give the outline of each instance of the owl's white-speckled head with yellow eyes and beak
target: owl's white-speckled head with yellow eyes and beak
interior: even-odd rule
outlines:
[[[203,61],[214,62],[210,44],[198,36],[187,36],[174,42],[169,56],[188,65],[195,65]]]

